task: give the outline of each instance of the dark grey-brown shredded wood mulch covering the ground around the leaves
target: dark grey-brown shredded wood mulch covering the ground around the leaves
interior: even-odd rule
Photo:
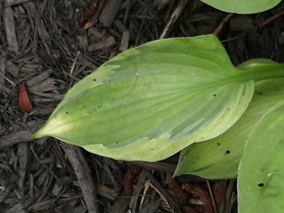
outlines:
[[[0,212],[214,212],[212,197],[217,209],[236,212],[234,180],[184,175],[176,182],[169,174],[177,156],[133,167],[53,138],[28,139],[75,82],[121,51],[161,35],[218,31],[236,65],[250,58],[284,62],[284,19],[275,16],[284,4],[233,15],[219,31],[227,14],[198,0],[165,6],[102,0],[92,17],[96,24],[83,30],[95,2],[0,1]],[[30,113],[18,107],[21,82],[33,104]],[[182,190],[182,183],[190,185]],[[219,192],[210,196],[208,183]]]

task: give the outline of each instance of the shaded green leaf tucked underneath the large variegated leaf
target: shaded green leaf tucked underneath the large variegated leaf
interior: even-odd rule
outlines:
[[[283,99],[283,78],[258,82],[253,99],[239,121],[222,136],[185,148],[180,154],[175,175],[192,174],[209,179],[236,178],[244,144],[253,126]]]

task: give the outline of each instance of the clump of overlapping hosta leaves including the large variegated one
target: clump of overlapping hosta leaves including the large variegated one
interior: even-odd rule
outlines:
[[[270,60],[234,67],[215,35],[155,40],[75,84],[33,138],[119,160],[189,146],[175,175],[239,175],[240,213],[283,212],[283,78],[284,64]]]

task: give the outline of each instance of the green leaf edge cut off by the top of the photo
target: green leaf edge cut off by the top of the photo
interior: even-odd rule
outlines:
[[[280,3],[281,0],[201,0],[220,11],[229,13],[260,13]]]

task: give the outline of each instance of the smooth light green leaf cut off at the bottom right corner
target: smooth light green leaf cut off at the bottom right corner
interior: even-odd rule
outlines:
[[[239,213],[284,209],[284,102],[280,102],[253,129],[239,165]]]

